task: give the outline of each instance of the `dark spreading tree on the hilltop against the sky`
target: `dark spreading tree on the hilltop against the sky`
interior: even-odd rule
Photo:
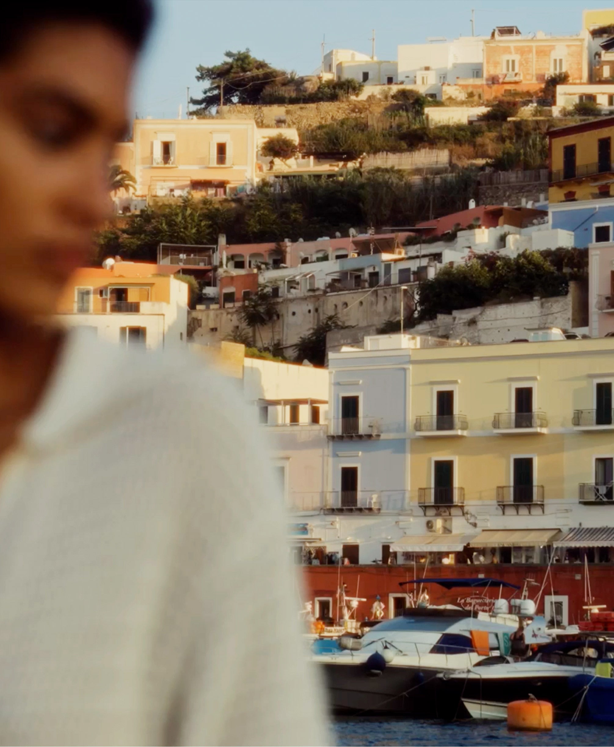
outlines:
[[[257,104],[265,87],[274,81],[281,83],[288,78],[283,70],[275,69],[264,60],[252,57],[249,49],[240,52],[224,52],[226,58],[219,65],[197,67],[197,81],[206,84],[203,96],[190,99],[200,107],[192,114],[209,114],[222,102],[229,104]],[[223,94],[221,98],[221,88]]]

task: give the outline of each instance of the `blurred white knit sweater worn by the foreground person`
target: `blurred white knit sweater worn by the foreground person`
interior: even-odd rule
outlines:
[[[327,742],[252,420],[200,362],[70,333],[0,475],[0,743]]]

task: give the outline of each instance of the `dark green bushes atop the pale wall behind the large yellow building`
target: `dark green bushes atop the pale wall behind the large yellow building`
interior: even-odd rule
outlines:
[[[491,253],[457,267],[443,267],[420,284],[418,321],[487,303],[565,296],[570,279],[586,277],[586,252],[553,249],[515,258]]]

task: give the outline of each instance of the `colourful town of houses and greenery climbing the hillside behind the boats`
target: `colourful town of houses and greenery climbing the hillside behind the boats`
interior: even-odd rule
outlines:
[[[316,638],[509,614],[467,576],[568,635],[614,610],[614,8],[571,20],[310,75],[227,52],[117,143],[58,320],[233,382]]]

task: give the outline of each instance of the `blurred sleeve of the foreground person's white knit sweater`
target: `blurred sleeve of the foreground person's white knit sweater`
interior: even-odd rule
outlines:
[[[222,396],[216,409],[223,413],[210,430],[215,468],[202,475],[209,520],[177,741],[329,744],[325,684],[299,632],[301,583],[263,436],[236,396]]]

